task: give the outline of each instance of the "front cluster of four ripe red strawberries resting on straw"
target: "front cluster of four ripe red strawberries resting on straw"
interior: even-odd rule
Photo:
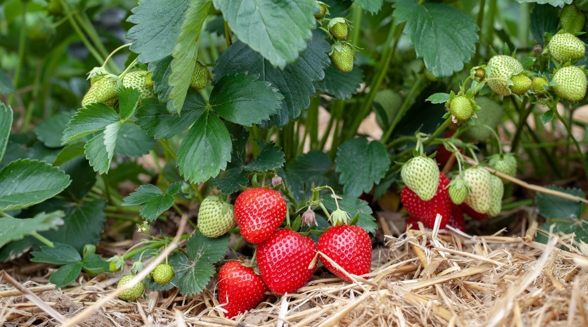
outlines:
[[[348,273],[363,275],[370,271],[370,237],[359,226],[347,225],[346,219],[323,233],[317,244],[308,236],[279,228],[286,218],[286,202],[278,191],[247,189],[236,198],[234,211],[243,238],[257,245],[259,274],[251,265],[236,261],[220,268],[218,301],[230,318],[255,308],[267,291],[279,295],[296,292],[315,273],[317,257],[346,281],[351,281]],[[332,216],[343,212],[338,211]]]

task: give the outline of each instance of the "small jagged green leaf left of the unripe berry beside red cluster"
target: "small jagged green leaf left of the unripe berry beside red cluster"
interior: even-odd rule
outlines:
[[[164,211],[173,205],[173,196],[164,194],[161,189],[152,184],[141,185],[123,199],[121,205],[139,205],[145,203],[139,209],[139,214],[146,221],[154,221]]]

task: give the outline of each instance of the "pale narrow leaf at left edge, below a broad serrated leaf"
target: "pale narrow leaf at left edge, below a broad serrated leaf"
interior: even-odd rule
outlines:
[[[63,211],[54,211],[41,212],[33,218],[0,217],[0,248],[8,242],[18,241],[27,235],[56,229],[57,226],[64,224],[64,220],[61,219],[63,216]]]

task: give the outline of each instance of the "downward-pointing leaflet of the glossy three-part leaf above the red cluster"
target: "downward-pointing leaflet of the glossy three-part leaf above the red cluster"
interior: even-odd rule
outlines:
[[[226,168],[231,148],[226,126],[207,110],[199,116],[179,146],[179,171],[192,183],[204,182]]]

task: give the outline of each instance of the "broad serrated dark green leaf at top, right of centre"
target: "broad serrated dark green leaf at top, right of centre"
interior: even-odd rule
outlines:
[[[472,18],[453,6],[434,2],[398,0],[393,6],[397,22],[406,22],[417,57],[423,58],[433,75],[462,71],[478,41],[479,28]]]

